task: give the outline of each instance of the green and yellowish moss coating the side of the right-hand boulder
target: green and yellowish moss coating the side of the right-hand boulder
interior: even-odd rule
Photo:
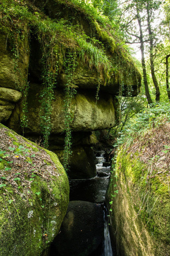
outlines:
[[[132,155],[130,147],[121,148],[116,168],[112,167],[112,171],[113,181],[108,190],[110,199],[107,200],[113,200],[112,229],[119,239],[120,251],[125,251],[127,256],[165,255],[170,250],[167,176],[163,180],[159,175],[152,174],[151,178],[148,165],[142,163],[139,153]],[[113,198],[114,184],[119,192]],[[118,222],[119,231],[116,231]],[[128,237],[126,241],[124,237]]]

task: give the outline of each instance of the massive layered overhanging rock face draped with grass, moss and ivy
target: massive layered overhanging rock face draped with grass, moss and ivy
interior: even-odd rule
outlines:
[[[27,88],[30,85],[30,93],[26,97],[30,104],[28,131],[37,134],[41,132],[38,126],[40,118],[37,117],[37,113],[39,114],[39,108],[41,108],[38,103],[40,100],[38,98],[40,96],[39,92],[45,85],[43,77],[47,66],[44,63],[49,62],[50,72],[56,74],[55,82],[53,81],[54,85],[63,89],[68,85],[67,68],[65,67],[68,66],[69,52],[76,53],[73,88],[76,88],[79,92],[73,100],[74,120],[71,129],[73,131],[89,131],[113,127],[114,110],[110,95],[118,95],[120,91],[122,91],[123,96],[137,95],[141,74],[126,50],[121,48],[119,43],[116,44],[116,40],[110,32],[102,28],[102,25],[95,20],[93,15],[83,10],[81,6],[65,0],[35,0],[23,2],[20,6],[17,1],[5,0],[1,8],[4,16],[0,24],[0,52],[2,57],[0,87],[22,91],[23,98],[20,103],[25,104],[26,109],[27,104],[24,97],[26,97]],[[5,12],[6,8],[8,14]],[[11,11],[13,8],[18,11],[13,13]],[[13,22],[6,15],[11,16]],[[9,19],[8,22],[7,18]],[[50,28],[53,28],[53,26],[54,30],[51,31]],[[72,31],[72,29],[73,33],[70,33],[69,31]],[[52,39],[53,32],[56,35],[54,42]],[[52,53],[52,59],[51,57],[47,58],[48,60],[44,62],[43,53],[47,50],[45,50],[44,45],[48,45],[47,42],[51,42],[49,43],[49,48],[51,47],[49,52]],[[81,51],[84,52],[82,55]],[[28,63],[29,77],[27,79]],[[40,84],[38,92],[35,90],[36,95],[32,95],[33,89],[31,87],[34,82]],[[95,95],[99,85],[102,93],[99,92],[99,101],[97,107],[95,107]],[[57,92],[57,89],[55,92]],[[105,97],[105,94],[108,94],[108,96]],[[9,93],[6,95],[9,95]],[[13,104],[17,103],[19,98],[18,95],[16,96],[11,98],[11,95],[9,95],[9,98],[5,98],[5,101]],[[54,100],[52,106],[51,132],[55,134],[64,130],[64,96],[63,94],[60,96],[61,98],[55,95],[55,100],[58,102]],[[32,100],[35,100],[35,98],[37,101],[32,106]],[[104,101],[102,101],[103,98]],[[37,111],[33,109],[35,104],[37,104]],[[14,106],[11,104],[5,106],[1,103],[0,106],[4,116],[0,116],[0,121],[5,123],[9,119]],[[24,116],[22,119],[24,113],[20,109],[19,115],[18,108],[18,105],[14,108],[8,124],[10,123],[10,128],[21,133],[19,121],[27,120],[27,118]],[[82,117],[83,112],[84,117]],[[35,122],[36,119],[37,122]],[[61,124],[60,121],[62,121]],[[33,124],[34,122],[35,124]]]

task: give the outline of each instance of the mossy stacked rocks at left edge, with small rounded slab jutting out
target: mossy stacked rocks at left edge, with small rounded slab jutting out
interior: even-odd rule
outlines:
[[[14,60],[12,48],[15,44],[8,33],[8,27],[0,26],[0,122],[6,122],[17,101],[21,99],[19,90],[27,82],[29,46],[27,36],[19,43],[19,59]],[[15,70],[15,61],[17,68]]]

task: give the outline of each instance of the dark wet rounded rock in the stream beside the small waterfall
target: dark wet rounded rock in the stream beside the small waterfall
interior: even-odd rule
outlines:
[[[100,204],[70,201],[50,255],[95,255],[93,252],[102,244],[103,233],[103,208]]]

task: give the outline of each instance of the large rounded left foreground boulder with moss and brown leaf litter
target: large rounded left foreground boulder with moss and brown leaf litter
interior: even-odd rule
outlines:
[[[64,168],[51,151],[0,124],[0,255],[40,256],[68,206]]]

